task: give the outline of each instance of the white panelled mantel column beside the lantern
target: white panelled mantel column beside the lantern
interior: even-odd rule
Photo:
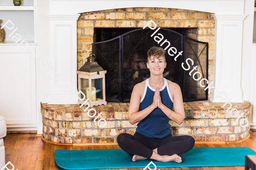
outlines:
[[[49,18],[49,102],[77,104],[77,19],[80,14]]]

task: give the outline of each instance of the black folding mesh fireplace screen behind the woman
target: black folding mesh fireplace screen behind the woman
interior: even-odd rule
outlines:
[[[168,40],[171,45],[167,48],[167,42],[161,47],[166,49],[167,66],[164,69],[164,78],[179,84],[183,95],[183,101],[208,100],[208,91],[202,95],[199,92],[199,74],[189,75],[194,66],[202,74],[201,79],[208,79],[208,42],[193,40],[181,33],[171,29],[161,28],[157,33],[161,33],[164,39],[158,44],[151,37],[154,30],[135,29],[129,31],[114,39],[94,42],[92,52],[97,56],[96,61],[106,73],[106,101],[108,102],[130,102],[131,92],[135,84],[143,82],[150,77],[150,71],[147,69],[147,50],[152,46],[160,46],[164,40]],[[174,56],[168,54],[168,49],[175,47],[177,53]],[[178,52],[182,56],[176,58]],[[185,62],[189,61],[189,70],[184,70],[181,63],[184,62],[185,69],[188,68]],[[202,85],[207,85],[205,80]],[[201,88],[204,89],[204,88]]]

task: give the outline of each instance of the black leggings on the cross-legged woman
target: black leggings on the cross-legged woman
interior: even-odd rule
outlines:
[[[149,159],[153,154],[152,150],[155,148],[158,148],[159,155],[184,154],[193,148],[195,139],[188,135],[172,137],[172,134],[162,139],[148,138],[136,131],[134,135],[119,134],[117,143],[128,154]]]

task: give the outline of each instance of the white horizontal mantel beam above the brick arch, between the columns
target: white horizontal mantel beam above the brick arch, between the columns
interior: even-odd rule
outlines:
[[[51,0],[51,13],[77,14],[82,12],[111,10],[129,7],[163,7],[205,11],[220,14],[243,14],[243,0]]]

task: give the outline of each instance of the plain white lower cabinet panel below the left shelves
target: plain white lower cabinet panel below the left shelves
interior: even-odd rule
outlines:
[[[31,125],[36,124],[35,70],[35,48],[26,53],[25,48],[0,46],[0,115],[7,127],[36,127]]]

